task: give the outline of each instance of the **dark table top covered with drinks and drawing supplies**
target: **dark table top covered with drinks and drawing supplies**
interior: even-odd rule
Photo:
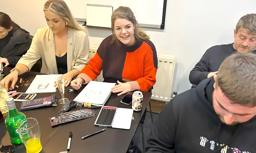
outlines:
[[[5,73],[8,73],[9,68],[4,68]],[[37,74],[42,74],[38,72],[26,72],[19,76],[19,78],[32,78]],[[18,79],[19,80],[19,79]],[[22,87],[19,83],[16,83],[19,85],[18,88],[15,88],[14,90],[17,90],[18,92],[25,92],[29,85],[23,84]],[[71,99],[74,99],[80,91],[82,91],[83,87],[79,90],[74,90],[73,92],[67,92],[71,86],[68,86],[65,88],[65,97]],[[57,97],[61,97],[59,91],[57,90],[55,93],[38,93],[35,99],[37,98],[43,98],[47,96],[51,96],[53,94],[56,94]],[[102,127],[99,127],[97,125],[94,125],[94,122],[97,118],[91,117],[87,119],[77,120],[70,123],[64,123],[56,126],[51,126],[49,118],[51,117],[57,117],[59,110],[62,108],[63,105],[57,103],[57,106],[49,106],[45,108],[39,108],[39,109],[33,109],[29,111],[23,111],[27,118],[33,117],[38,120],[40,131],[41,131],[41,143],[43,146],[42,152],[45,153],[58,153],[60,151],[67,151],[67,144],[68,144],[68,137],[69,132],[72,131],[73,137],[71,140],[71,147],[70,147],[70,153],[77,153],[77,152],[118,152],[123,153],[126,152],[131,139],[133,138],[138,125],[140,123],[140,119],[142,117],[142,114],[144,111],[146,111],[146,106],[148,101],[151,98],[152,93],[151,92],[143,92],[143,108],[142,111],[136,112],[133,111],[133,120],[131,122],[131,128],[130,130],[124,130],[124,129],[114,129],[111,127],[108,127],[106,131],[94,135],[92,137],[89,137],[87,139],[82,140],[81,137],[94,133],[96,131],[99,131],[102,129]],[[112,93],[110,96],[108,102],[105,104],[106,106],[115,106],[115,107],[122,107],[122,108],[131,108],[130,106],[124,105],[120,103],[120,100],[123,98],[122,96],[117,96],[117,94]],[[20,105],[21,102],[15,102],[16,107],[18,111],[20,111]],[[80,107],[80,106],[77,106]],[[82,107],[80,107],[82,109]],[[79,109],[79,108],[78,108]],[[98,114],[100,109],[95,109],[96,113]],[[3,114],[4,119],[8,116],[8,113]],[[7,129],[4,124],[4,120],[0,122],[0,142],[2,142],[3,147],[0,148],[0,151],[3,150],[3,148],[11,144],[9,134],[7,132]],[[16,152],[24,152],[25,153],[25,147],[20,146],[15,148]],[[15,153],[16,153],[15,152]]]

